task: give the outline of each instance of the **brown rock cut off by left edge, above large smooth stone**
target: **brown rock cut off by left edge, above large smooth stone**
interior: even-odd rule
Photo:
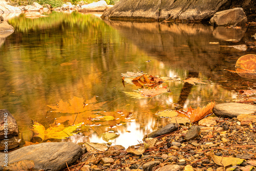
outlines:
[[[0,110],[0,151],[9,150],[19,145],[18,125],[6,109]]]

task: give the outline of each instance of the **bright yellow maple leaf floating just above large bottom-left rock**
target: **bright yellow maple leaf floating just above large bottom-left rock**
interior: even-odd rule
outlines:
[[[33,132],[35,133],[35,137],[40,137],[42,141],[47,139],[65,139],[66,137],[70,137],[73,135],[73,132],[77,130],[77,128],[82,124],[78,123],[73,126],[65,127],[63,124],[50,126],[47,130],[45,126],[34,122],[33,124]]]

